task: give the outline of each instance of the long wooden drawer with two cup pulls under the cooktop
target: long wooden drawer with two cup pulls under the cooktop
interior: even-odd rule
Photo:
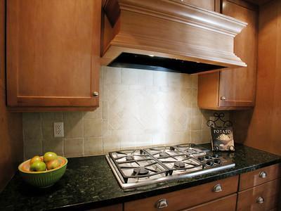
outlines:
[[[221,191],[215,187],[221,186]],[[124,210],[182,210],[237,192],[238,176],[124,203]]]

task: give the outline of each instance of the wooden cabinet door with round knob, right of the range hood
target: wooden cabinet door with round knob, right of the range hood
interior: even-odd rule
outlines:
[[[232,68],[220,72],[219,107],[254,106],[255,101],[258,13],[234,2],[223,0],[221,11],[223,15],[248,23],[235,37],[234,46],[235,54],[247,63],[247,68]]]

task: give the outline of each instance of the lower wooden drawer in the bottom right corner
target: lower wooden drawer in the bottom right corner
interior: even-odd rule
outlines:
[[[237,210],[274,210],[279,202],[280,179],[238,193]]]

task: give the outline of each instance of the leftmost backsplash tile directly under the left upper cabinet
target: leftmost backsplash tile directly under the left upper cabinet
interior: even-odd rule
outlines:
[[[26,140],[42,139],[40,113],[23,113],[22,115],[23,136]]]

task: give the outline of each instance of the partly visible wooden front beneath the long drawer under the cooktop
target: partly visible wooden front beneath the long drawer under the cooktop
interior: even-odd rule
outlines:
[[[236,198],[237,198],[237,194],[233,194],[230,196],[226,196],[223,198],[219,198],[217,200],[212,200],[209,203],[204,203],[203,205],[199,205],[196,207],[192,207],[188,210],[184,210],[184,211],[205,211],[205,210],[209,210],[209,211],[235,211],[236,209]]]

